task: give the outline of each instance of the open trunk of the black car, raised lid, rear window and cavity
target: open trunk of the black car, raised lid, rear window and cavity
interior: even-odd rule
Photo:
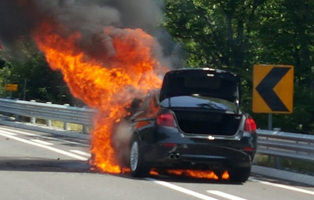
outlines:
[[[160,90],[160,105],[174,111],[187,134],[234,136],[241,123],[239,77],[216,69],[168,72]]]

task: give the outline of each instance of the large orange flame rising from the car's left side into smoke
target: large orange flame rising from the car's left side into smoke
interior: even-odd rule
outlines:
[[[109,27],[104,33],[111,36],[115,50],[109,58],[104,55],[105,61],[92,59],[78,47],[78,32],[65,37],[44,24],[34,37],[52,69],[61,70],[72,94],[99,111],[92,133],[91,164],[119,173],[110,143],[112,124],[128,114],[125,108],[137,94],[160,88],[158,75],[166,68],[152,56],[155,40],[143,30]]]

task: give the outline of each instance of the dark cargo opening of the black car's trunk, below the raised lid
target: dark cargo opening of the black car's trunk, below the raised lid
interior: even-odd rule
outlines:
[[[188,134],[233,136],[236,134],[242,118],[236,114],[223,112],[173,111],[180,129]]]

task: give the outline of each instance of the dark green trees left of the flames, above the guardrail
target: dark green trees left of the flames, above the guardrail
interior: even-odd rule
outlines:
[[[6,57],[5,64],[2,63],[0,69],[2,97],[10,95],[3,87],[8,83],[18,84],[18,91],[12,92],[11,98],[25,97],[26,100],[34,99],[37,102],[81,104],[71,95],[61,73],[51,70],[45,57],[30,40],[21,41],[20,46],[20,52],[14,57]]]

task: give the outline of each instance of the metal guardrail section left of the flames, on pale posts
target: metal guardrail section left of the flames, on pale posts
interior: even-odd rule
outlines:
[[[93,116],[97,111],[90,108],[78,108],[65,105],[56,105],[51,102],[38,103],[35,101],[21,101],[0,98],[0,112],[30,117],[31,123],[36,123],[36,118],[46,119],[47,126],[51,120],[63,121],[64,129],[69,130],[69,122],[83,125],[83,133],[93,124]]]

